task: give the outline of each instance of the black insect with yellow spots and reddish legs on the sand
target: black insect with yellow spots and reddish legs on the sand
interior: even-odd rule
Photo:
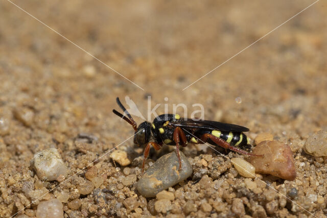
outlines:
[[[138,145],[146,144],[142,172],[144,172],[144,166],[149,156],[150,147],[152,146],[158,151],[162,148],[163,143],[176,146],[179,169],[181,169],[179,146],[186,147],[188,142],[194,144],[208,142],[214,146],[220,146],[240,154],[260,156],[238,148],[250,143],[250,139],[243,133],[249,131],[246,127],[211,120],[187,119],[180,117],[178,114],[162,114],[154,118],[152,124],[145,121],[137,126],[119,98],[116,98],[116,102],[127,116],[115,109],[113,109],[112,112],[132,125],[135,131],[134,143]]]

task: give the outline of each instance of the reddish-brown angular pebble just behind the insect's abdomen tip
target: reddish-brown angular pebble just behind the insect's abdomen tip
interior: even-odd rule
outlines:
[[[264,157],[249,157],[255,172],[273,175],[286,180],[296,178],[293,153],[287,144],[278,141],[262,141],[253,148],[253,154]]]

